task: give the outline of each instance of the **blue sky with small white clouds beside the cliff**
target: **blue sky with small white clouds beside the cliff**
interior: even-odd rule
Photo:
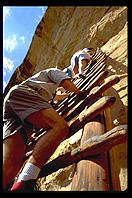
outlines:
[[[25,58],[45,6],[3,7],[3,91]]]

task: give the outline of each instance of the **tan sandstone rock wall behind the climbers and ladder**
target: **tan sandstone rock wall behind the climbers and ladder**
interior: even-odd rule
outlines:
[[[120,82],[109,89],[118,102],[113,106],[112,123],[127,124],[127,7],[81,6],[48,7],[38,24],[30,48],[22,64],[12,75],[5,93],[14,84],[49,67],[63,69],[70,65],[74,52],[84,47],[100,47],[109,54],[110,75],[117,74]],[[58,156],[77,146],[81,131],[65,140],[52,156]],[[119,149],[118,149],[119,150]],[[118,152],[121,190],[127,188],[127,149]],[[41,190],[70,190],[75,165],[39,180]]]

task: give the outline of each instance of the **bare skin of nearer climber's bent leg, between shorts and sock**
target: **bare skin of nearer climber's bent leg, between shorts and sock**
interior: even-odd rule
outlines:
[[[50,127],[50,129],[38,140],[34,147],[33,154],[28,160],[28,162],[42,168],[58,145],[66,137],[68,125],[52,108],[42,109],[33,113],[27,120],[38,128]]]

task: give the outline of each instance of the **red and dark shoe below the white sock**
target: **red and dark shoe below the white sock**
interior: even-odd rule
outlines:
[[[15,191],[15,192],[33,192],[36,186],[36,180],[31,179],[28,181],[20,181],[16,182],[13,184],[12,188],[10,191]]]

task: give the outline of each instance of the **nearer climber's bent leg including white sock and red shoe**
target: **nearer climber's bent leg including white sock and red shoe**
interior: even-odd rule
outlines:
[[[68,125],[65,120],[53,109],[41,109],[26,118],[37,128],[48,129],[36,143],[33,154],[24,166],[11,191],[27,190],[26,184],[37,178],[42,166],[54,153],[58,145],[68,133]],[[29,187],[28,187],[29,189]]]

